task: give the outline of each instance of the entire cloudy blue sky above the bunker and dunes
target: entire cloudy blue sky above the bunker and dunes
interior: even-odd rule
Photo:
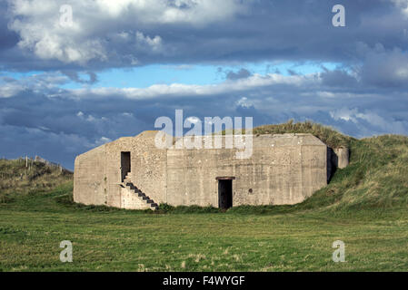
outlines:
[[[0,0],[0,158],[73,169],[175,110],[406,135],[408,0]]]

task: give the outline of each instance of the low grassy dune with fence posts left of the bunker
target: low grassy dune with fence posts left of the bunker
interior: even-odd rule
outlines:
[[[42,162],[0,160],[0,203],[11,202],[17,196],[55,189],[73,179],[73,173]]]

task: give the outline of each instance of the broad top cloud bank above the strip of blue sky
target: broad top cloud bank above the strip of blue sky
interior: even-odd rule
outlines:
[[[74,28],[58,26],[65,2],[73,7]],[[408,19],[393,1],[341,1],[346,9],[341,28],[332,25],[332,7],[339,4],[332,0],[228,0],[224,7],[213,0],[209,5],[184,0],[178,6],[152,1],[147,8],[127,1],[8,3],[2,19],[8,28],[2,25],[0,34],[10,35],[8,45],[16,45],[18,35],[15,51],[25,53],[25,62],[4,54],[2,63],[26,70],[262,60],[354,63],[362,61],[357,43],[382,43],[386,49],[408,43]]]

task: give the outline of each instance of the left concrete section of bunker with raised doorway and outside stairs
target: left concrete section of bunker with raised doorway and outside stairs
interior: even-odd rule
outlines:
[[[75,159],[74,200],[85,205],[144,209],[138,198],[127,200],[121,187],[121,152],[131,152],[131,179],[155,202],[165,201],[166,150],[154,146],[156,131],[124,137]]]

